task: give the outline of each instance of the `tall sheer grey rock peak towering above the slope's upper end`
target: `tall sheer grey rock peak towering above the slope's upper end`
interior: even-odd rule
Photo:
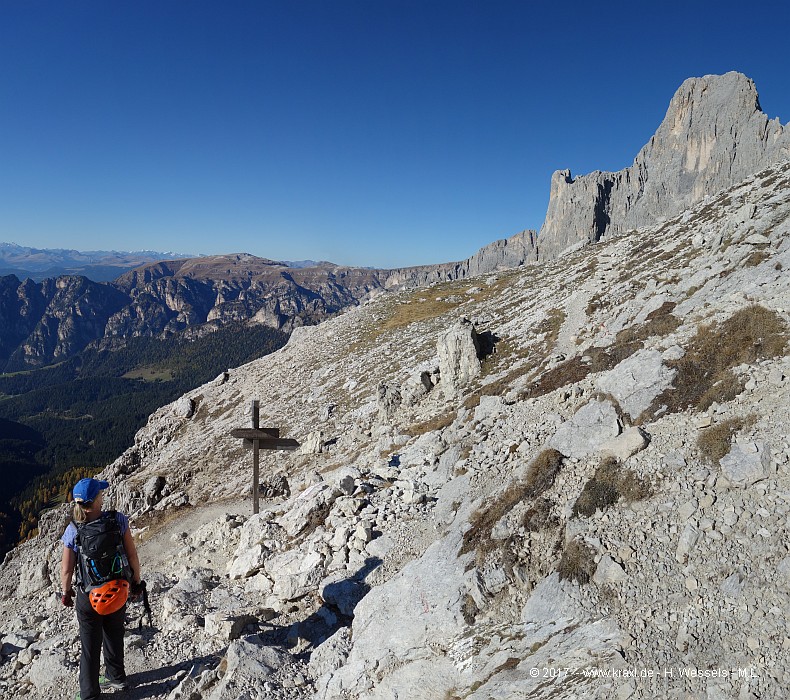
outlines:
[[[788,158],[790,131],[762,112],[749,78],[689,78],[633,165],[576,179],[570,170],[554,173],[540,257],[670,218]]]

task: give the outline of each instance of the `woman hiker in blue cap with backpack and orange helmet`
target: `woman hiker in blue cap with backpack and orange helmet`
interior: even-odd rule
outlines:
[[[144,585],[129,519],[123,513],[102,510],[108,486],[98,479],[77,482],[72,491],[73,519],[61,538],[61,602],[67,607],[74,605],[72,576],[77,573],[81,700],[97,700],[101,690],[128,687],[123,661],[126,601],[130,589],[137,596]],[[107,680],[100,687],[102,646]]]

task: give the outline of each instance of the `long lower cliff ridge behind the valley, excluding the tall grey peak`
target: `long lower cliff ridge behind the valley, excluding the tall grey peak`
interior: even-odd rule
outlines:
[[[46,365],[91,343],[112,347],[119,338],[201,334],[234,321],[290,331],[384,290],[521,265],[534,235],[495,241],[461,262],[398,270],[331,263],[291,268],[236,254],[148,264],[112,284],[78,276],[20,282],[9,275],[0,278],[0,368]]]

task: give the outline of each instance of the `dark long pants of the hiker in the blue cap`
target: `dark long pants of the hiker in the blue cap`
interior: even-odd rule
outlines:
[[[77,621],[80,625],[80,698],[98,700],[99,659],[104,647],[104,665],[107,679],[125,681],[123,667],[123,632],[126,606],[111,615],[99,615],[90,604],[88,596],[77,592]]]

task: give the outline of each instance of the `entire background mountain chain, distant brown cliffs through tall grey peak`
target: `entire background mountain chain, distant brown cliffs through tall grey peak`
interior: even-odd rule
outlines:
[[[676,216],[772,163],[790,158],[790,131],[762,112],[740,73],[690,78],[675,93],[633,165],[576,179],[554,173],[540,235],[523,231],[467,260],[397,270],[320,264],[291,268],[251,255],[145,265],[111,286],[79,277],[40,285],[0,278],[0,325],[9,328],[0,366],[25,369],[65,359],[91,342],[206,333],[229,321],[290,331],[400,289],[556,259],[586,242]],[[121,291],[125,298],[115,293]],[[99,299],[97,308],[91,299]]]

